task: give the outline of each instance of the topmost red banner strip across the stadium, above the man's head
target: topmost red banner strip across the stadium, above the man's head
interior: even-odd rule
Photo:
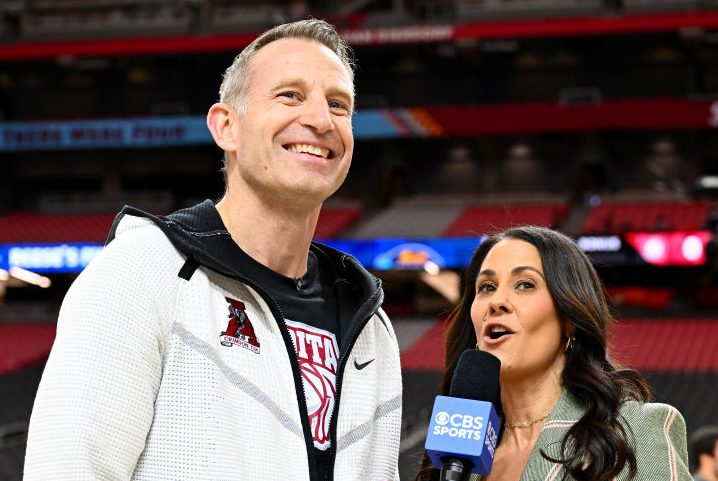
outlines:
[[[551,15],[550,2],[541,18],[509,18],[491,20],[501,13],[501,2],[487,8],[487,18],[456,24],[414,24],[390,27],[369,27],[372,15],[351,19],[351,28],[340,33],[354,46],[405,45],[417,43],[448,43],[465,40],[505,40],[532,37],[579,37],[586,35],[620,35],[646,32],[675,32],[684,29],[718,27],[718,11],[671,11],[623,13],[616,15],[579,14]],[[504,14],[514,7],[507,7]],[[481,9],[475,15],[481,16]],[[20,61],[72,55],[76,57],[112,57],[121,55],[199,54],[203,52],[239,52],[259,32],[216,33],[209,35],[147,36],[92,40],[10,42],[0,45],[0,61]]]

